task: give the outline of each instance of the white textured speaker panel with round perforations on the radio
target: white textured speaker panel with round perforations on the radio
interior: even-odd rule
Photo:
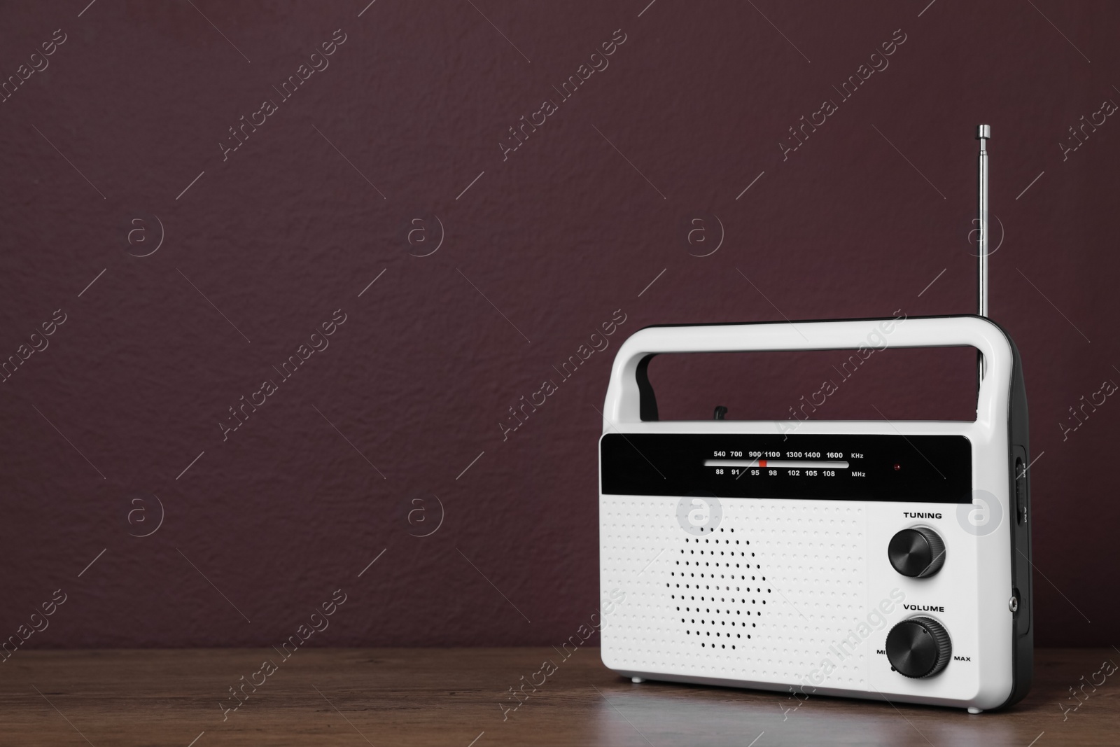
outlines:
[[[799,684],[828,657],[830,687],[866,689],[869,641],[850,635],[869,611],[865,508],[725,499],[698,534],[680,502],[600,496],[608,666]]]

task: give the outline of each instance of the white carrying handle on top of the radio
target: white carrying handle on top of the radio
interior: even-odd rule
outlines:
[[[620,423],[657,420],[646,375],[660,353],[765,351],[858,351],[886,347],[976,347],[986,365],[977,398],[977,420],[1006,423],[1014,373],[1007,334],[978,316],[846,319],[645,327],[615,355],[604,403],[604,432]]]

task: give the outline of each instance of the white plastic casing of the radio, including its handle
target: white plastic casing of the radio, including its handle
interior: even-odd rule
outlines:
[[[979,709],[1007,701],[1014,684],[1007,531],[1015,521],[1008,474],[1014,354],[996,325],[940,317],[645,328],[615,358],[604,435],[774,435],[788,427],[786,421],[642,421],[635,375],[650,354],[856,349],[880,338],[892,347],[978,348],[986,374],[977,420],[806,420],[797,433],[964,436],[971,443],[973,496],[995,505],[718,498],[719,529],[701,539],[680,525],[679,497],[600,493],[604,664],[656,680]],[[941,519],[913,520],[904,512]],[[902,576],[887,559],[890,538],[916,525],[933,527],[945,543],[944,567],[931,578]],[[685,560],[711,563],[700,567],[711,588],[684,588],[682,569],[698,568]],[[903,604],[944,610],[908,610]],[[941,622],[952,641],[953,659],[927,679],[902,676],[878,653],[893,625],[917,615]],[[827,675],[825,662],[834,666]]]

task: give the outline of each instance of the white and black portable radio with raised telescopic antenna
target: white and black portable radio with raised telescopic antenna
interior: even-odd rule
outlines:
[[[979,315],[666,325],[618,349],[599,440],[601,656],[633,678],[967,708],[1034,663],[1023,366]],[[974,421],[657,420],[660,353],[972,346]],[[899,465],[905,464],[905,469]]]

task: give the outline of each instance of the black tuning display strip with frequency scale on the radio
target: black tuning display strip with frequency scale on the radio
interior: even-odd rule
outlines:
[[[607,495],[972,503],[963,436],[607,433]]]

